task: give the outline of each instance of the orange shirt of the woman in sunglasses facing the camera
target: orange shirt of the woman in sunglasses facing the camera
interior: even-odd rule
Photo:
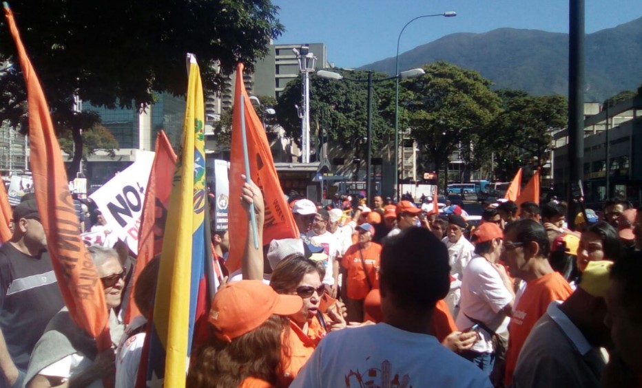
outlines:
[[[324,316],[327,322],[330,319]],[[283,359],[288,361],[287,367],[284,368],[287,382],[292,382],[296,375],[299,373],[303,365],[314,352],[315,347],[320,343],[321,338],[326,335],[325,327],[323,327],[315,316],[310,323],[308,323],[307,332],[303,332],[301,328],[290,321],[290,330],[288,333],[287,345],[289,348],[289,359],[284,354]]]

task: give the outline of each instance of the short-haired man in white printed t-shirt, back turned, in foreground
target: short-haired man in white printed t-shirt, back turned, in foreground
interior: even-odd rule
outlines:
[[[491,387],[428,333],[448,283],[448,252],[433,233],[391,237],[381,254],[384,321],[327,334],[290,387]]]

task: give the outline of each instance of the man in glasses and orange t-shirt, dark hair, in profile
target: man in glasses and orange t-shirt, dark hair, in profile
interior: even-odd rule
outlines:
[[[517,356],[537,320],[552,301],[564,301],[570,285],[548,261],[550,242],[546,229],[532,219],[511,222],[504,230],[502,255],[512,277],[526,282],[526,290],[513,308],[508,325],[508,352],[504,385],[512,385]]]

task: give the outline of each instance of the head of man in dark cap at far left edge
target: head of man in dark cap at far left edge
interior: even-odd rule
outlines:
[[[20,202],[13,211],[14,240],[21,240],[29,250],[47,248],[47,236],[40,223],[36,200]]]

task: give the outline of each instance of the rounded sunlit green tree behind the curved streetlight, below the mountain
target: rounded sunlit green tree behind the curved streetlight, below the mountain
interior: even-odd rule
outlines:
[[[460,145],[474,150],[484,138],[499,111],[499,98],[478,72],[446,62],[424,65],[424,71],[400,85],[409,92],[408,127],[437,171],[445,166],[447,172],[448,158]]]

